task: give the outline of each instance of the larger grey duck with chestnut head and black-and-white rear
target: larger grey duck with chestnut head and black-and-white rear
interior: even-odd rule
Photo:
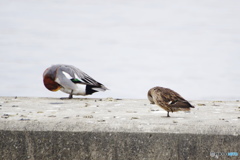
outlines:
[[[43,72],[43,84],[50,91],[62,91],[69,94],[68,99],[73,95],[91,95],[95,92],[108,90],[103,84],[75,66],[56,64]]]

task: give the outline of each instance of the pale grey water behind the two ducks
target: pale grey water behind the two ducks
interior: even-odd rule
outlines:
[[[0,96],[64,97],[42,73],[74,65],[110,90],[154,86],[189,100],[240,99],[238,0],[0,0]]]

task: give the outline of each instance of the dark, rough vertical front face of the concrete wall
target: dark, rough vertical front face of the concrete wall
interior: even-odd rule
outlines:
[[[171,133],[0,131],[0,142],[2,160],[203,160],[240,148],[239,136]]]

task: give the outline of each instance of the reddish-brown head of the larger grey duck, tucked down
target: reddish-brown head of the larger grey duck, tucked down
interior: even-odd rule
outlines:
[[[47,68],[43,73],[43,84],[50,91],[58,91],[61,89],[61,85],[55,82],[56,71],[52,71],[50,68]]]

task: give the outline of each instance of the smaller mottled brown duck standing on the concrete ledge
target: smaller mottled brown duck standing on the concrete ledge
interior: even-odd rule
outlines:
[[[147,97],[151,104],[156,104],[167,111],[167,117],[170,117],[169,112],[190,111],[190,108],[195,108],[180,94],[169,88],[153,87],[148,91]]]

